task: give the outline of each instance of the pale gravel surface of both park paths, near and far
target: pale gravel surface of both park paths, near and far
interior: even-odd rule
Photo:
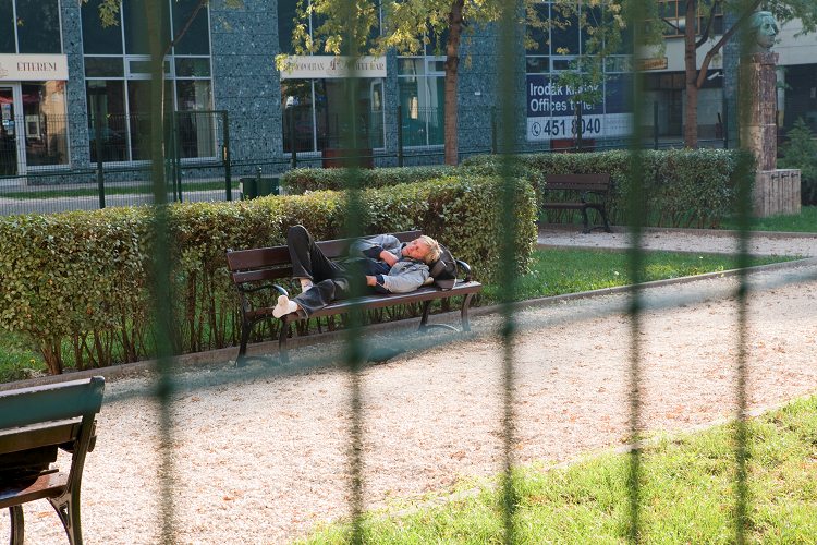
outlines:
[[[729,239],[651,232],[649,247],[728,251]],[[550,244],[613,246],[622,234],[542,232]],[[673,242],[674,241],[674,242]],[[724,245],[725,244],[725,245]],[[779,245],[778,245],[779,244]],[[817,255],[817,239],[769,238],[757,253]],[[817,264],[753,275],[748,400],[755,409],[817,392]],[[734,414],[734,278],[649,289],[643,320],[644,426],[699,427]],[[519,463],[559,462],[626,438],[626,295],[526,310],[513,342]],[[444,347],[410,350],[361,374],[365,504],[399,505],[502,464],[502,354],[496,315]],[[438,336],[438,338],[440,338]],[[451,339],[451,337],[444,337]],[[419,339],[413,337],[419,342]],[[207,366],[180,374],[171,415],[174,543],[286,543],[347,513],[349,374]],[[149,373],[109,382],[83,483],[86,542],[160,541],[160,411]],[[26,506],[27,544],[64,543],[50,507]],[[0,526],[8,525],[5,513]],[[4,530],[0,528],[0,532]],[[0,533],[0,535],[2,535]]]

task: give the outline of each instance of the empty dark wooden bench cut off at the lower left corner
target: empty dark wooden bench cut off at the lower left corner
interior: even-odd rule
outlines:
[[[0,509],[9,508],[12,545],[23,544],[23,504],[37,499],[82,544],[80,486],[103,390],[105,379],[93,377],[0,392]],[[52,467],[58,448],[71,453],[68,473]]]

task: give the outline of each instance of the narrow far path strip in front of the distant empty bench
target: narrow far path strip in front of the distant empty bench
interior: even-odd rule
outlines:
[[[539,246],[626,249],[632,243],[623,228],[614,232],[594,231],[583,234],[574,226],[544,226],[539,229]],[[645,231],[642,245],[646,250],[732,254],[737,252],[737,232],[704,229],[658,229]],[[755,231],[749,239],[755,255],[817,256],[817,233],[778,233]]]

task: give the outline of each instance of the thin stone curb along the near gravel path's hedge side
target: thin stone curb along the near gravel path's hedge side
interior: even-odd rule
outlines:
[[[760,272],[775,272],[779,270],[786,270],[800,267],[817,266],[817,257],[809,257],[805,259],[796,259],[784,263],[771,263],[768,265],[758,265],[756,267],[748,267],[743,269],[747,275],[760,274]],[[703,280],[712,280],[719,278],[732,278],[739,276],[742,269],[730,269],[719,272],[707,272],[704,275],[685,276],[681,278],[668,278],[664,280],[654,280],[650,282],[644,282],[639,286],[641,289],[653,289],[662,288],[666,286],[678,286],[692,283]],[[526,301],[517,301],[510,305],[510,308],[514,312],[523,311],[526,308],[538,308],[544,306],[552,306],[564,301],[574,301],[580,299],[593,299],[603,295],[613,295],[621,293],[629,293],[633,291],[635,284],[629,286],[617,286],[614,288],[601,288],[598,290],[583,291],[577,293],[565,293],[563,295],[552,295],[539,299],[529,299]],[[472,317],[488,316],[491,314],[500,314],[503,312],[504,305],[490,305],[490,306],[477,306],[471,310]],[[455,322],[459,317],[460,311],[452,311],[444,314],[434,314],[429,316],[429,323],[431,324],[446,324]],[[398,329],[408,329],[416,327],[415,318],[406,318],[398,322],[387,322],[382,324],[371,324],[366,326],[371,332],[385,332],[393,331]],[[333,342],[338,341],[345,334],[344,330],[328,331],[324,334],[310,335],[306,337],[293,337],[288,340],[290,349],[301,348],[317,344],[319,342]],[[229,364],[234,361],[237,355],[237,347],[228,347],[222,349],[210,350],[207,352],[196,352],[192,354],[181,354],[174,356],[174,362],[179,367],[193,367],[198,365],[214,365],[214,364]],[[278,353],[278,341],[264,341],[249,344],[247,347],[247,356],[271,356]],[[158,360],[145,360],[142,362],[124,363],[121,365],[112,365],[110,367],[100,367],[95,370],[75,371],[63,373],[62,375],[48,375],[36,378],[27,378],[23,380],[16,380],[12,383],[0,384],[0,391],[8,391],[17,388],[29,388],[34,386],[44,386],[50,384],[58,384],[68,380],[76,380],[82,378],[89,378],[92,376],[102,376],[106,379],[126,378],[133,375],[142,373],[154,372],[157,370]]]

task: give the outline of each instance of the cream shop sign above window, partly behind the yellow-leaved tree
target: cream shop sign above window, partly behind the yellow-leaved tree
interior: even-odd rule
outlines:
[[[292,56],[284,61],[281,80],[386,77],[386,57]]]

